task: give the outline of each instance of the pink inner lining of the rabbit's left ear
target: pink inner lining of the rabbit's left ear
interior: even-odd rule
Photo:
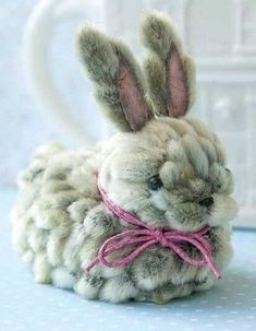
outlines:
[[[125,118],[132,130],[141,130],[148,121],[146,102],[134,75],[123,63],[119,67],[118,90]]]

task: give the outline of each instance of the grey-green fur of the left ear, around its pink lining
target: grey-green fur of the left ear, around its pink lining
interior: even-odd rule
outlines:
[[[146,82],[142,70],[123,43],[113,40],[95,28],[83,26],[77,38],[78,55],[89,78],[95,82],[95,94],[107,117],[122,131],[132,131],[123,116],[122,101],[117,86],[120,62],[130,69],[137,88],[145,98],[148,119],[150,103],[146,101]]]

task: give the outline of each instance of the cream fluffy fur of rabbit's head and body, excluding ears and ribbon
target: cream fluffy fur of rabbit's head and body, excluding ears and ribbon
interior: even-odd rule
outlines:
[[[74,152],[53,143],[35,153],[32,166],[20,178],[13,234],[15,247],[32,263],[37,282],[73,287],[86,298],[114,303],[129,298],[166,302],[214,284],[207,268],[176,264],[171,251],[157,246],[126,268],[97,265],[90,276],[81,268],[106,238],[127,226],[102,204],[96,174],[111,199],[150,225],[195,229],[209,224],[216,263],[222,269],[229,261],[228,221],[234,217],[236,205],[230,197],[231,173],[221,164],[223,151],[209,131],[198,130],[203,128],[198,121],[179,119],[179,126],[176,121],[160,118],[136,135],[117,134],[92,151]],[[191,137],[190,146],[186,137]],[[204,152],[202,138],[215,151],[210,156]],[[191,157],[191,149],[202,156]],[[44,168],[35,168],[36,163]],[[164,188],[150,192],[146,180],[156,173]],[[196,197],[208,196],[209,190],[215,190],[215,204],[207,213],[198,208]]]

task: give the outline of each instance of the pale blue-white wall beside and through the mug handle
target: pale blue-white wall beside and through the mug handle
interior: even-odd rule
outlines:
[[[41,0],[44,1],[44,0]],[[19,170],[26,166],[36,146],[48,140],[69,142],[69,132],[60,132],[32,98],[24,68],[24,28],[35,0],[0,0],[0,186],[14,186]],[[63,1],[69,2],[69,1]],[[75,2],[72,0],[70,2]],[[97,138],[100,118],[93,104],[90,83],[77,62],[74,35],[84,21],[102,24],[97,1],[86,12],[59,23],[53,39],[51,68],[57,86],[85,130]],[[100,21],[100,22],[99,22]],[[90,109],[93,109],[90,111]]]

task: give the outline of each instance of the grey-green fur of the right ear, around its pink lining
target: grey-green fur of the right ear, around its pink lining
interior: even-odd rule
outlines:
[[[183,52],[181,40],[171,22],[166,15],[151,12],[142,22],[141,39],[149,50],[144,67],[149,94],[155,106],[155,114],[169,116],[167,71],[170,50],[173,45],[180,52],[186,73],[186,84],[190,94],[187,109],[190,109],[195,99],[195,64],[192,58]]]

